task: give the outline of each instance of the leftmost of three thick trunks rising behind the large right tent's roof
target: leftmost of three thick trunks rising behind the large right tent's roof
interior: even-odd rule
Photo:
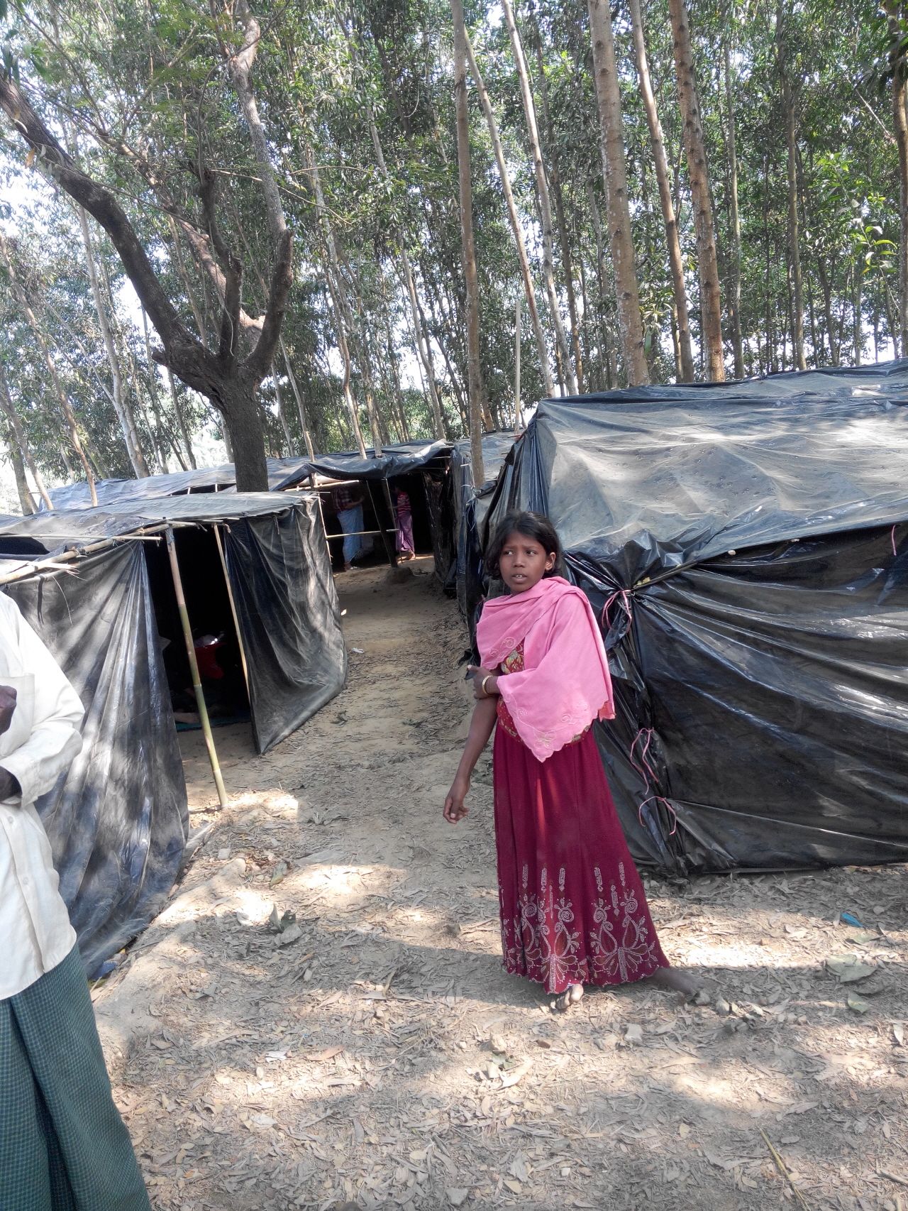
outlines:
[[[605,214],[611,236],[611,264],[615,275],[617,326],[630,386],[649,383],[643,340],[639,288],[634,268],[631,212],[625,173],[625,143],[621,133],[621,92],[615,65],[615,41],[608,0],[587,0],[590,38],[593,46],[596,98],[599,109],[602,179],[605,186]]]

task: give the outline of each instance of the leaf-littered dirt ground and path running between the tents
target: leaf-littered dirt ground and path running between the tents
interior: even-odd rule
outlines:
[[[501,970],[488,762],[441,816],[470,696],[430,572],[338,578],[347,687],[265,757],[215,734],[224,811],[182,736],[213,830],[94,992],[153,1206],[908,1209],[904,867],[646,878],[712,1003],[554,1012]]]

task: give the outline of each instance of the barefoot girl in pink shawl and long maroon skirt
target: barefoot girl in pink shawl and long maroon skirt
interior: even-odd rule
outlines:
[[[591,731],[615,708],[602,635],[586,595],[561,574],[554,527],[510,512],[488,552],[510,590],[485,602],[476,629],[481,667],[470,735],[444,800],[467,814],[470,776],[498,723],[494,748],[501,949],[505,970],[556,993],[651,978],[690,997],[668,965],[611,802]]]

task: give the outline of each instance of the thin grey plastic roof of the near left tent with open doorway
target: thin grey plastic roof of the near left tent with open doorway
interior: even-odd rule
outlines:
[[[52,513],[33,513],[30,517],[0,516],[0,552],[8,552],[17,545],[11,544],[11,539],[31,539],[52,553],[74,544],[116,538],[166,521],[220,522],[282,513],[299,499],[295,494],[275,497],[270,492],[206,492],[191,497],[114,501],[98,509],[54,510]]]

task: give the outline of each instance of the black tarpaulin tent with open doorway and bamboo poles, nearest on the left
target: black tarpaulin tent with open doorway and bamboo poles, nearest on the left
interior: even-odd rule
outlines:
[[[38,807],[88,971],[160,911],[188,837],[171,706],[174,670],[185,684],[179,660],[188,658],[167,553],[154,540],[168,524],[195,631],[232,627],[219,528],[259,752],[338,694],[346,676],[311,495],[218,493],[132,501],[128,513],[0,518],[4,589],[86,708],[82,752]],[[64,568],[48,568],[48,557]]]

